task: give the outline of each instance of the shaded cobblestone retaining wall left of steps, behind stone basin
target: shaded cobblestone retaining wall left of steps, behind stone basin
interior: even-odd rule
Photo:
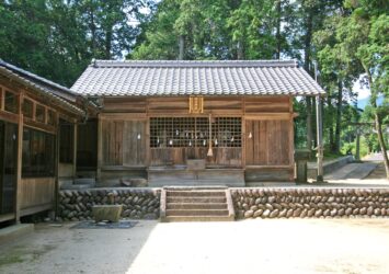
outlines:
[[[64,220],[92,218],[93,205],[122,204],[122,217],[159,218],[160,190],[155,189],[90,189],[59,192],[59,216]]]

